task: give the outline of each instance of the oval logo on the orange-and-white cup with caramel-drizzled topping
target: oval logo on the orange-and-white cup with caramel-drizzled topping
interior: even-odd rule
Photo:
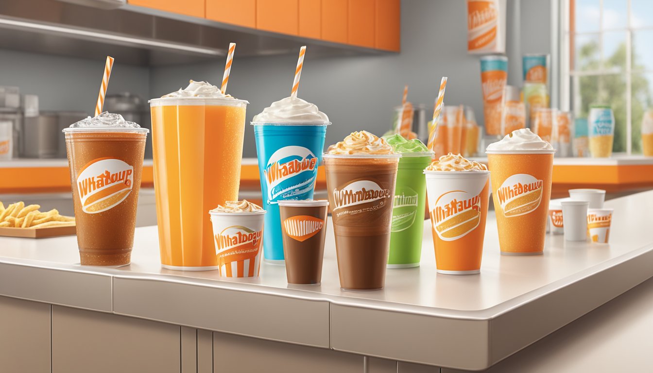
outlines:
[[[481,194],[466,191],[444,193],[431,210],[432,229],[441,240],[453,241],[461,238],[481,223]]]

